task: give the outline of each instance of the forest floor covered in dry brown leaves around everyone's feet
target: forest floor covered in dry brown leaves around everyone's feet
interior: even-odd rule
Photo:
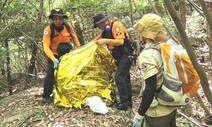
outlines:
[[[134,112],[140,103],[138,95],[140,85],[132,83],[133,108],[120,111],[108,107],[107,114],[96,114],[89,107],[82,109],[57,107],[53,103],[44,104],[41,97],[34,96],[41,86],[32,86],[16,91],[13,95],[0,95],[0,127],[132,127]],[[204,105],[212,112],[202,89],[198,91]],[[208,117],[197,98],[179,108],[177,127],[211,127],[211,116]],[[185,115],[185,116],[183,116]],[[196,122],[194,124],[193,122]]]

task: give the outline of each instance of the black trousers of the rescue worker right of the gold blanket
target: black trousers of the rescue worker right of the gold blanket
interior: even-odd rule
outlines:
[[[128,56],[122,56],[117,60],[117,70],[115,74],[115,82],[119,92],[121,102],[132,102],[132,88],[130,81],[130,67],[132,61]]]

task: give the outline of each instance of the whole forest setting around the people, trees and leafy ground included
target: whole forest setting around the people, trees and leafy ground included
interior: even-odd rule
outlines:
[[[0,126],[59,126],[59,123],[64,123],[61,126],[68,126],[69,122],[73,126],[132,126],[133,113],[130,112],[111,109],[112,116],[96,116],[89,113],[89,110],[83,112],[42,105],[30,94],[32,88],[41,87],[43,83],[47,57],[43,52],[42,34],[43,29],[51,22],[48,19],[51,9],[56,7],[62,8],[69,16],[67,22],[74,26],[81,45],[99,34],[98,29],[93,29],[92,21],[97,13],[110,15],[111,19],[121,21],[138,44],[140,40],[132,26],[144,14],[161,15],[169,38],[185,46],[201,78],[201,88],[194,102],[178,112],[178,126],[212,125],[211,0],[1,0]],[[139,86],[140,84],[133,84],[135,96],[138,96]],[[138,106],[136,102],[139,103],[136,99],[137,97],[134,110]],[[26,110],[29,105],[34,107],[29,108],[28,113],[21,109],[21,112],[14,111],[21,107]],[[21,113],[24,115],[20,115]],[[85,113],[89,115],[86,116]],[[66,120],[60,121],[61,115]],[[95,121],[91,117],[110,120]],[[87,122],[80,121],[81,118],[85,118]]]

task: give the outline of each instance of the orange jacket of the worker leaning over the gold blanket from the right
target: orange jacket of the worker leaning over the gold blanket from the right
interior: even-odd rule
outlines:
[[[112,25],[112,20],[110,20],[110,23],[109,23],[109,26],[111,28],[111,25]],[[112,30],[112,35],[113,35],[113,38],[114,39],[118,39],[118,40],[124,40],[125,39],[125,34],[126,34],[126,38],[129,38],[129,34],[127,33],[125,27],[123,26],[123,24],[121,22],[114,22],[113,23],[113,26],[111,28]],[[102,31],[103,32],[103,31]],[[94,38],[92,41],[96,41],[96,40],[99,40],[102,38],[102,33],[99,34],[96,38]],[[116,41],[118,43],[113,43],[113,44],[110,44],[110,41],[107,43],[109,45],[109,49],[113,49],[114,46],[120,46],[120,45],[123,45],[123,42],[124,41]]]

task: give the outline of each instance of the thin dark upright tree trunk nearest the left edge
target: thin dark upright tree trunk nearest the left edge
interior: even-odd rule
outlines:
[[[8,39],[5,40],[5,47],[6,47],[6,57],[7,57],[8,92],[9,92],[9,95],[12,95],[13,87],[12,87],[12,77],[11,77],[11,68],[10,68],[10,49],[9,49]]]

